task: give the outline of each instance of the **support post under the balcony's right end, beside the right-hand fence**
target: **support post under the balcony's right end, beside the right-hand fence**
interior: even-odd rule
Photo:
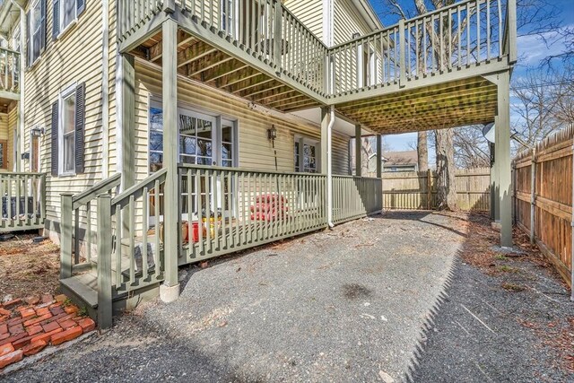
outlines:
[[[510,73],[497,74],[498,112],[496,118],[495,170],[498,174],[500,246],[512,246],[512,198],[510,166]]]

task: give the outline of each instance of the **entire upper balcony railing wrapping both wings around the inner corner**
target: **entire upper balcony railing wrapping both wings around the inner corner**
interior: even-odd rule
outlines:
[[[466,0],[327,48],[277,0],[120,0],[120,40],[172,2],[206,30],[321,96],[516,59],[516,0]]]

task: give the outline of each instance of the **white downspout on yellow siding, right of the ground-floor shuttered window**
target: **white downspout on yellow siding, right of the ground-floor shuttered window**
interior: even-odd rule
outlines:
[[[109,177],[109,0],[101,1],[101,178]]]

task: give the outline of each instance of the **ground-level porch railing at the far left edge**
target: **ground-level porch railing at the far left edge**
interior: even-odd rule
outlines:
[[[0,232],[41,229],[46,219],[46,174],[0,173]]]

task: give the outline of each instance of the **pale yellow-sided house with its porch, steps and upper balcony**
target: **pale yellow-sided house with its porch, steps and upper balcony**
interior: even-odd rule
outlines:
[[[109,326],[112,308],[177,298],[178,265],[380,210],[379,179],[345,177],[352,137],[494,118],[481,75],[509,73],[512,24],[488,59],[422,71],[366,0],[311,3],[5,0],[0,231],[59,242],[63,291]]]

